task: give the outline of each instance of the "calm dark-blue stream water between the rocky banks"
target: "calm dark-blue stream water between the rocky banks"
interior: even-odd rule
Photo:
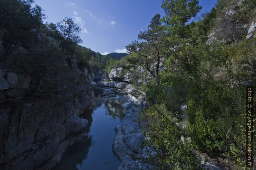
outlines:
[[[52,170],[117,170],[120,162],[112,152],[112,142],[122,112],[119,103],[109,100],[95,108],[92,115],[82,116],[89,122],[93,120],[89,137],[69,146]]]

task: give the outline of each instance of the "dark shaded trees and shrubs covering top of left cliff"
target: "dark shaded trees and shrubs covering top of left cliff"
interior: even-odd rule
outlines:
[[[103,69],[109,57],[78,45],[81,29],[71,18],[43,24],[33,2],[0,0],[0,67],[31,76],[25,95],[53,99],[82,78],[78,70]]]

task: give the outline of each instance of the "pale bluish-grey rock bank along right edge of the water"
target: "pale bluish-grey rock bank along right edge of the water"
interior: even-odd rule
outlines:
[[[133,102],[130,98],[122,105],[126,109],[123,113],[124,118],[121,120],[121,124],[115,127],[116,135],[112,144],[113,153],[121,162],[118,170],[146,169],[140,161],[133,160],[131,157],[131,155],[143,155],[140,146],[144,137],[137,122],[137,116],[140,114],[138,107],[140,102],[140,100]]]

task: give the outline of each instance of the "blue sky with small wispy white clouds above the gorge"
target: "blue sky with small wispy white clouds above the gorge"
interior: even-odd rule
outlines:
[[[216,1],[199,0],[200,13],[210,11]],[[44,22],[72,18],[81,28],[81,45],[102,54],[125,52],[156,13],[164,15],[162,0],[35,0],[35,4],[44,9]]]

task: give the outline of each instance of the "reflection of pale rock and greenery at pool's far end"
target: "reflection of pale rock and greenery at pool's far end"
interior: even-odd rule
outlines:
[[[109,116],[111,116],[113,119],[115,119],[116,117],[122,119],[124,117],[123,111],[125,108],[118,100],[111,99],[105,101],[105,107],[108,110],[107,114],[109,114]]]

